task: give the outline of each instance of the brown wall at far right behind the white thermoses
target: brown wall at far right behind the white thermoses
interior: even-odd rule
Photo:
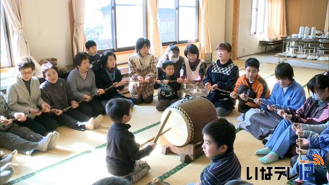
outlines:
[[[300,26],[323,30],[328,0],[286,0],[285,4],[288,35],[298,34]]]

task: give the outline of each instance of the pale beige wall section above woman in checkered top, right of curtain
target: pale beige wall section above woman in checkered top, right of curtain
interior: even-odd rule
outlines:
[[[225,0],[209,0],[208,13],[212,61],[215,61],[218,59],[216,47],[225,38]]]

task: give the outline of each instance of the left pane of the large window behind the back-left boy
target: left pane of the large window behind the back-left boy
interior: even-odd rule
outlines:
[[[87,40],[94,40],[97,49],[114,48],[110,0],[85,0],[84,31]]]

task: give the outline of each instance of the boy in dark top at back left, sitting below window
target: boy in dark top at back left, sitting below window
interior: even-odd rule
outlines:
[[[95,72],[102,67],[99,62],[99,60],[101,59],[101,55],[97,53],[97,44],[95,41],[89,40],[86,42],[85,46],[89,55],[89,68]]]

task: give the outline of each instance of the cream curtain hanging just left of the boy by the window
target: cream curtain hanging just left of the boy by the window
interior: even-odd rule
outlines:
[[[73,31],[73,54],[86,51],[85,43],[87,42],[84,33],[84,0],[72,0],[74,31]]]

